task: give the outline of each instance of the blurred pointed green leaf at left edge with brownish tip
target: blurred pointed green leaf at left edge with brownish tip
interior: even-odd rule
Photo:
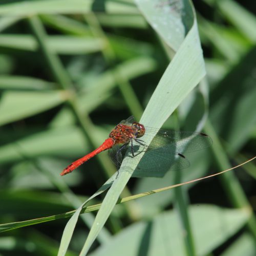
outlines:
[[[65,91],[4,91],[0,101],[0,125],[49,110],[68,97]]]

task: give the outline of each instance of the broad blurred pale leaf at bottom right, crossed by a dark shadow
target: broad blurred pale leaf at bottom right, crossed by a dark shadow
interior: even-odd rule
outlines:
[[[246,223],[250,213],[246,209],[225,209],[214,205],[193,205],[189,217],[196,243],[196,255],[207,255]],[[96,255],[186,255],[182,243],[184,230],[175,211],[166,211],[148,222],[138,222],[116,234]],[[127,242],[129,241],[129,242]]]

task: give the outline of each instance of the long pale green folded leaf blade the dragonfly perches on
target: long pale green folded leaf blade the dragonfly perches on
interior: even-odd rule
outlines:
[[[157,26],[154,26],[157,32],[158,28],[161,28],[162,26],[162,20],[152,20],[151,18],[155,17],[155,15],[151,14],[152,11],[157,9],[156,6],[161,3],[161,1],[154,3],[138,1],[138,6],[140,10],[143,11],[143,13],[146,13],[146,18],[150,19],[151,24],[157,24]],[[174,46],[179,48],[179,50],[175,54],[172,62],[163,74],[140,120],[140,122],[146,126],[154,126],[160,128],[166,121],[166,119],[170,116],[170,114],[173,113],[173,111],[178,107],[182,100],[188,95],[191,90],[193,90],[193,88],[200,82],[200,80],[205,75],[204,62],[202,50],[200,47],[195,14],[192,7],[190,6],[190,3],[185,2],[185,8],[183,9],[183,11],[186,11],[187,13],[185,15],[185,13],[182,13],[181,11],[180,13],[182,13],[182,15],[193,17],[194,24],[193,22],[189,22],[189,18],[185,19],[185,22],[183,24],[183,31],[188,31],[188,33],[182,44],[182,37],[177,37],[177,40],[175,40],[176,42],[179,42],[181,44],[179,47],[177,47],[177,45],[175,45],[174,43]],[[170,12],[163,11],[161,14],[163,19],[165,18],[165,15],[166,18],[170,16]],[[177,19],[179,20],[179,22],[181,22],[181,15],[178,16]],[[178,20],[175,20],[175,22],[178,22]],[[161,29],[159,33],[161,33]],[[164,39],[167,43],[172,45],[173,40],[168,40],[169,35],[172,35],[172,30],[168,30],[168,33],[166,36],[164,36]],[[145,137],[144,141],[145,143],[149,143],[150,138]],[[88,252],[92,243],[96,239],[99,231],[111,214],[111,211],[115,206],[121,191],[132,176],[133,170],[136,168],[136,165],[138,164],[141,157],[142,154],[133,158],[133,161],[131,161],[127,157],[124,159],[119,170],[119,176],[113,182],[112,187],[106,194],[101,208],[98,211],[94,225],[92,226],[87,241],[81,251],[81,255],[85,255]]]

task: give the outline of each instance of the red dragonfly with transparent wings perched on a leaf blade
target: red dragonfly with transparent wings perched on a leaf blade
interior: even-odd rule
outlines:
[[[149,138],[151,142],[147,144],[143,137]],[[131,116],[117,124],[109,138],[96,150],[71,163],[60,175],[73,172],[81,164],[105,150],[110,150],[109,154],[117,170],[125,156],[134,159],[143,152],[144,155],[136,168],[137,172],[152,173],[161,170],[160,173],[165,173],[168,170],[189,167],[190,163],[184,153],[202,150],[211,144],[212,139],[205,133],[156,129],[135,122]],[[127,155],[127,152],[130,153]]]

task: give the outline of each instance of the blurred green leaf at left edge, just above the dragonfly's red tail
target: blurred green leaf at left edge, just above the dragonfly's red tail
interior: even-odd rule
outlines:
[[[103,134],[102,134],[103,137]],[[76,126],[38,132],[0,147],[0,162],[10,163],[37,156],[78,157],[88,142]]]

